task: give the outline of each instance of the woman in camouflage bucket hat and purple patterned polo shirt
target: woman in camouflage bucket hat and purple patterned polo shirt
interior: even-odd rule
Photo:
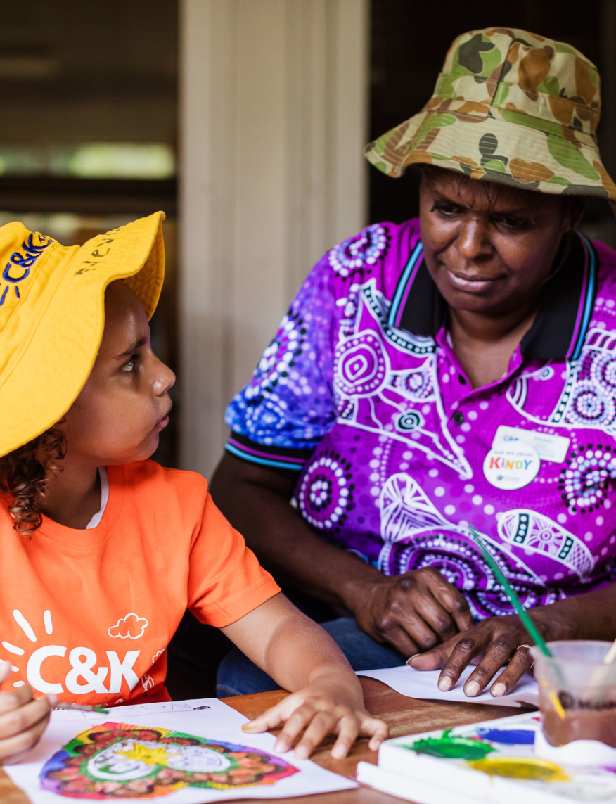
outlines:
[[[616,200],[598,107],[572,47],[458,37],[424,111],[367,150],[421,165],[419,221],[326,255],[229,406],[212,493],[279,580],[353,615],[373,667],[412,656],[448,689],[477,661],[467,695],[529,667],[469,523],[547,638],[616,635],[616,254],[575,232],[580,196]]]

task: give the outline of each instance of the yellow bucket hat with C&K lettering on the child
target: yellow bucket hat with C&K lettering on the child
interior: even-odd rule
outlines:
[[[154,313],[164,218],[156,212],[83,246],[19,223],[0,227],[0,455],[44,433],[76,400],[101,344],[110,282],[125,279],[147,317]]]

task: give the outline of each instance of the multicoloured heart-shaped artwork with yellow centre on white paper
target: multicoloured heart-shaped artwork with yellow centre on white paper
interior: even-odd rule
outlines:
[[[166,728],[102,723],[55,753],[40,779],[43,790],[69,798],[156,798],[186,786],[274,785],[294,773],[298,769],[279,757],[243,745]]]

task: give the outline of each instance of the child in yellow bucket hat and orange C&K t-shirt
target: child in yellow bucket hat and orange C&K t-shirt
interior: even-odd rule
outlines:
[[[387,727],[335,643],[280,593],[199,474],[147,458],[175,376],[150,347],[161,212],[66,248],[0,228],[0,761],[35,745],[56,700],[168,700],[186,609],[292,694],[246,728],[334,757]],[[302,734],[303,732],[303,734]]]

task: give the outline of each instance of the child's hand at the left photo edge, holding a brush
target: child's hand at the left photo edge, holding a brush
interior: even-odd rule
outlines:
[[[10,662],[0,662],[0,687],[10,673]],[[0,765],[19,761],[39,742],[55,701],[55,695],[34,700],[29,684],[0,692]]]

